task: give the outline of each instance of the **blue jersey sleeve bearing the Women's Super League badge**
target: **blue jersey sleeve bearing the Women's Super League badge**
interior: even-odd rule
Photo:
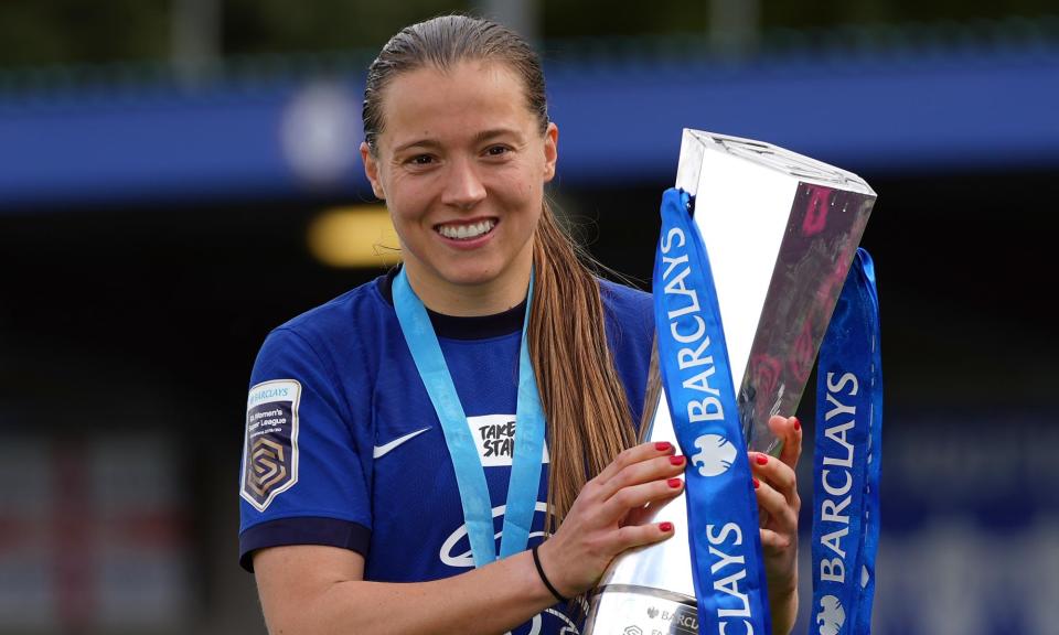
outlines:
[[[370,384],[351,381],[364,390]],[[356,401],[370,403],[370,395]],[[367,555],[370,424],[354,420],[333,365],[308,340],[288,329],[268,336],[250,379],[239,474],[246,570],[265,547],[327,545]]]

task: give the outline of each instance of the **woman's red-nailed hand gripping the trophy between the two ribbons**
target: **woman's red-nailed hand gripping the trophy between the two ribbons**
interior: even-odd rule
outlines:
[[[783,443],[780,456],[751,452],[750,469],[761,513],[772,632],[790,633],[798,615],[798,516],[802,501],[794,469],[802,454],[802,426],[794,417],[773,416],[769,428]]]

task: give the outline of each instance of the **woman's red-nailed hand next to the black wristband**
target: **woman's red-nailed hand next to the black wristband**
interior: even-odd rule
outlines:
[[[673,535],[670,523],[643,524],[651,503],[684,491],[687,460],[673,444],[642,443],[623,451],[585,484],[552,538],[537,549],[552,584],[566,598],[599,582],[616,556]]]

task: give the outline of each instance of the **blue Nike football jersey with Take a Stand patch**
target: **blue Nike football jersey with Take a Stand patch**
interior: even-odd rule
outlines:
[[[329,545],[364,556],[364,577],[435,580],[474,567],[441,426],[391,297],[393,273],[272,331],[250,379],[240,474],[240,562],[255,549]],[[654,335],[651,297],[600,282],[608,343],[633,421]],[[478,444],[498,551],[514,454],[525,304],[498,315],[431,313]],[[545,440],[530,546],[547,501]],[[555,606],[514,633],[576,633]]]

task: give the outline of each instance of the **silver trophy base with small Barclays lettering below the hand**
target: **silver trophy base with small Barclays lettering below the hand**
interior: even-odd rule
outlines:
[[[596,590],[585,635],[697,635],[694,598],[633,584]]]

